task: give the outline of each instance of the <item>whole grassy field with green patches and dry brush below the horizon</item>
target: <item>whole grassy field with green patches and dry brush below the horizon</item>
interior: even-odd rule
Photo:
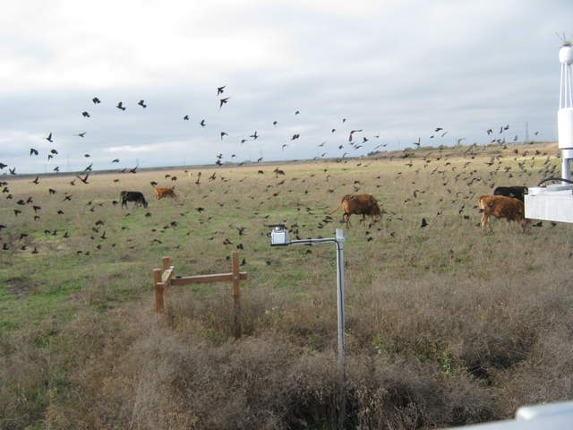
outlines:
[[[457,426],[570,400],[569,225],[483,231],[476,208],[494,186],[559,172],[556,153],[411,150],[87,185],[3,176],[0,428],[330,428],[334,246],[271,248],[266,226],[334,236],[341,213],[329,212],[355,192],[385,214],[345,231],[347,428]],[[155,201],[151,181],[175,185],[177,199]],[[122,190],[149,207],[113,204]],[[162,256],[194,275],[230,271],[234,250],[249,273],[240,340],[227,284],[174,288],[156,317]]]

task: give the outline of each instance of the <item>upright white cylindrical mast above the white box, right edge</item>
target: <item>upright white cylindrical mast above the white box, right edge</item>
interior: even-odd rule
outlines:
[[[573,46],[566,42],[559,50],[561,64],[561,82],[559,91],[559,111],[557,128],[559,148],[561,150],[561,177],[571,179],[569,162],[573,159],[573,97],[571,95],[571,64],[573,64]]]

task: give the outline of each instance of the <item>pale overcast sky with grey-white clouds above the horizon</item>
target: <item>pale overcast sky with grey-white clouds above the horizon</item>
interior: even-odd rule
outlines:
[[[571,38],[572,17],[571,0],[4,2],[0,162],[26,173],[353,156],[418,138],[521,141],[526,123],[555,140],[555,32]]]

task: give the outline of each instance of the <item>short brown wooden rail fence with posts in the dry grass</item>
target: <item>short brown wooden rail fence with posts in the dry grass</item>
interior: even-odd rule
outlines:
[[[231,254],[231,272],[212,275],[182,276],[175,278],[175,266],[170,257],[163,257],[163,268],[153,269],[155,310],[158,314],[165,311],[165,295],[174,285],[204,284],[210,282],[233,282],[234,318],[233,332],[235,338],[241,337],[241,288],[240,281],[247,280],[247,273],[239,271],[239,257],[236,251]]]

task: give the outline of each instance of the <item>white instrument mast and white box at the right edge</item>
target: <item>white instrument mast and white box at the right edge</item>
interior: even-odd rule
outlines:
[[[573,222],[573,184],[570,182],[570,162],[573,160],[573,88],[571,88],[573,45],[571,43],[566,42],[560,47],[559,61],[561,80],[557,128],[561,150],[562,185],[529,188],[529,193],[525,196],[526,218]]]

